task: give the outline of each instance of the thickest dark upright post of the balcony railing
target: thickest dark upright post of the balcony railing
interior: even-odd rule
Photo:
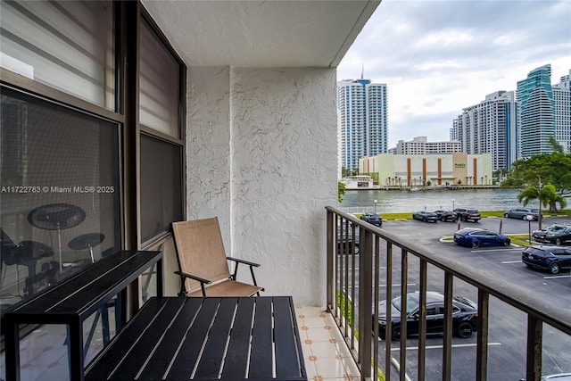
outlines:
[[[359,253],[359,360],[360,377],[371,377],[371,317],[373,301],[373,233],[360,229]]]

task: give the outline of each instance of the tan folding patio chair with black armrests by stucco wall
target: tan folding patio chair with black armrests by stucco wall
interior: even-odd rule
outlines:
[[[218,218],[194,219],[172,223],[180,271],[180,294],[186,296],[260,295],[253,268],[258,263],[227,257],[224,252]],[[230,274],[228,262],[236,263]],[[238,265],[250,266],[253,285],[236,281]]]

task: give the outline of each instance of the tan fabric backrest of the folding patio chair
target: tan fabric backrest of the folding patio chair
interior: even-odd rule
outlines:
[[[173,222],[172,230],[182,272],[213,282],[230,277],[217,217]],[[186,278],[185,286],[192,292],[200,283]]]

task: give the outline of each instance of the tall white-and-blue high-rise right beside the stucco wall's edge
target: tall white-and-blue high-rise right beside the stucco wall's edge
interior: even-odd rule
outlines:
[[[386,84],[370,79],[337,82],[341,166],[359,170],[365,156],[386,153],[388,144]]]

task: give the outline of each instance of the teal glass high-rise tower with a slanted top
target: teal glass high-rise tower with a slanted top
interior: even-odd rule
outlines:
[[[517,81],[519,155],[527,158],[552,152],[549,138],[555,136],[551,65],[531,70],[527,79]]]

